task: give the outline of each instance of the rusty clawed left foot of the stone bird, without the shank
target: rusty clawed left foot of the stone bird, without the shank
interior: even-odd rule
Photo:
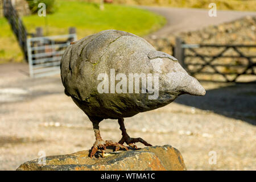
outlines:
[[[101,150],[101,156],[104,158],[104,153],[106,150],[106,147],[108,146],[114,146],[118,148],[125,148],[125,150],[128,150],[126,146],[123,146],[120,143],[112,142],[111,140],[102,140],[102,139],[97,139],[96,142],[93,144],[92,150],[90,152],[90,158],[93,158],[93,156],[96,154],[98,150]]]

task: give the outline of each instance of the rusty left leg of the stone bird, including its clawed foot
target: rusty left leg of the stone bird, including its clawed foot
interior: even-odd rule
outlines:
[[[101,150],[101,156],[104,158],[104,151],[106,150],[106,147],[108,146],[114,146],[114,147],[119,147],[119,148],[125,148],[125,150],[128,150],[126,146],[123,146],[122,144],[112,142],[110,140],[102,140],[101,135],[100,135],[100,127],[98,126],[100,122],[94,121],[93,122],[93,130],[94,134],[96,137],[96,142],[93,144],[92,150],[90,152],[90,158],[96,154],[98,150]]]

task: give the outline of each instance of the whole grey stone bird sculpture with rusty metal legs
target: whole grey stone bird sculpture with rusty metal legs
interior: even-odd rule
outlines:
[[[93,123],[96,137],[90,157],[107,146],[137,148],[124,119],[170,104],[181,94],[204,96],[205,89],[188,75],[175,57],[156,51],[146,40],[128,32],[105,30],[86,36],[69,46],[61,59],[65,94]],[[103,140],[99,123],[118,119],[122,138],[118,143]]]

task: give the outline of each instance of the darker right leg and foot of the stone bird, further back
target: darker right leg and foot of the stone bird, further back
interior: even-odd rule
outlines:
[[[141,142],[145,146],[152,146],[151,144],[147,143],[142,138],[130,138],[130,136],[126,133],[125,123],[123,123],[123,121],[124,121],[123,118],[118,119],[118,123],[120,125],[120,130],[122,131],[122,136],[123,136],[122,139],[118,143],[120,143],[120,144],[126,143],[130,147],[135,148],[135,149],[137,149],[137,146],[135,146],[135,144],[134,144],[136,142]],[[117,151],[117,150],[119,150],[119,147],[115,148],[115,151]]]

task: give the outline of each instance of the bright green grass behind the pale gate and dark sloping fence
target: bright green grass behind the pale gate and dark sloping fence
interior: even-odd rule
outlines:
[[[23,17],[28,32],[43,27],[44,35],[67,34],[68,27],[76,27],[78,38],[108,29],[131,32],[143,36],[162,27],[166,20],[147,10],[130,6],[105,4],[101,11],[97,3],[57,1],[57,11],[46,18],[37,14]],[[22,61],[22,52],[6,19],[0,18],[0,63]],[[46,34],[47,33],[47,34]]]

